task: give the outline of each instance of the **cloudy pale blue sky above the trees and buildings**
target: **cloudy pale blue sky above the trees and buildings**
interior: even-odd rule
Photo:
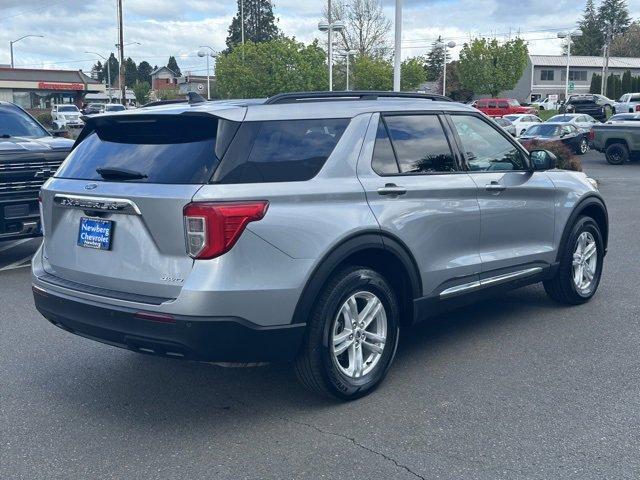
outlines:
[[[164,65],[178,58],[183,72],[203,73],[199,45],[224,48],[235,0],[123,0],[125,56],[136,62]],[[640,1],[631,0],[631,14],[640,18]],[[518,32],[532,53],[560,53],[556,32],[575,25],[584,0],[404,0],[403,56],[423,54],[438,36],[458,44],[474,35],[504,38]],[[107,56],[117,41],[115,0],[0,0],[0,64],[9,63],[9,41],[26,34],[14,46],[16,67],[90,70],[96,57]],[[274,12],[288,36],[308,42],[318,37],[325,1],[276,0]],[[394,1],[382,0],[394,18]],[[454,56],[458,48],[454,49]]]

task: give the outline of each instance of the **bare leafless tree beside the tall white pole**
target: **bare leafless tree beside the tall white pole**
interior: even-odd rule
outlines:
[[[325,8],[324,17],[327,19]],[[341,20],[345,28],[337,36],[338,48],[356,50],[361,57],[385,57],[391,52],[391,22],[379,0],[338,0],[331,7],[331,21]]]

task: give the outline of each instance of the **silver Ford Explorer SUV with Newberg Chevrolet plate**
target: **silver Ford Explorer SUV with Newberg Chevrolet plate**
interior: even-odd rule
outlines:
[[[71,333],[214,362],[294,361],[353,399],[399,333],[544,282],[596,292],[604,202],[477,110],[390,92],[282,94],[90,118],[42,188],[38,310]]]

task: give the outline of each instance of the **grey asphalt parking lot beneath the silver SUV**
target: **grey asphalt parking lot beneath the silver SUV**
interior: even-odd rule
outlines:
[[[0,251],[0,478],[638,478],[640,164],[583,162],[611,223],[593,301],[559,307],[532,286],[420,325],[348,404],[287,365],[70,335],[33,307],[21,265],[37,241]]]

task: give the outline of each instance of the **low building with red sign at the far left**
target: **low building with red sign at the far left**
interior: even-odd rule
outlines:
[[[80,106],[87,93],[102,93],[105,86],[82,70],[0,68],[0,101],[13,102],[28,110],[51,105]]]

